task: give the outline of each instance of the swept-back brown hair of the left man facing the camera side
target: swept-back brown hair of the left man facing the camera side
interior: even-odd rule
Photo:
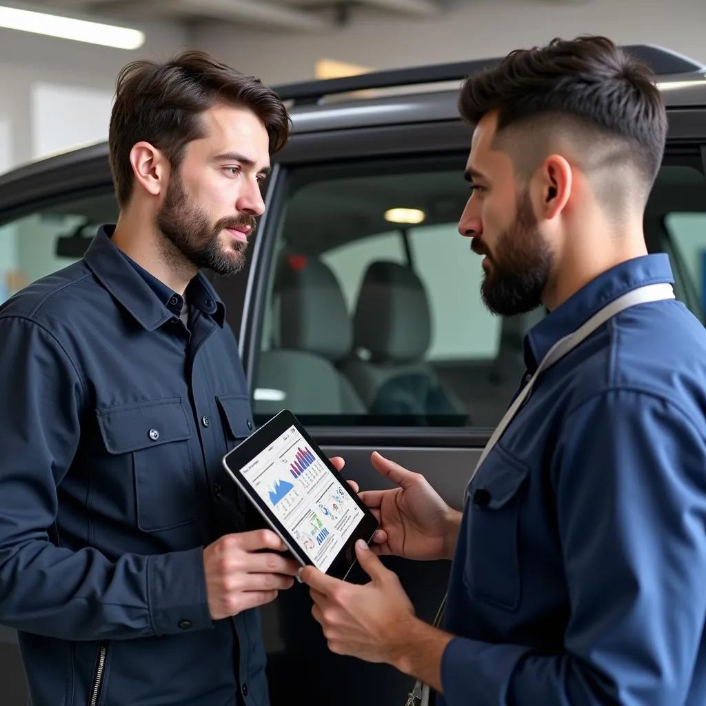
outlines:
[[[289,139],[289,115],[275,91],[205,52],[189,50],[164,64],[133,61],[116,82],[108,144],[116,197],[130,201],[133,170],[130,151],[145,140],[178,169],[184,148],[204,136],[201,114],[216,104],[250,109],[270,136],[270,153]]]

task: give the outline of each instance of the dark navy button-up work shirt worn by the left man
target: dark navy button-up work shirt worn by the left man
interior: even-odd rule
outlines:
[[[259,612],[212,621],[203,568],[253,526],[237,343],[203,275],[187,329],[112,230],[0,307],[0,622],[32,706],[264,706]]]

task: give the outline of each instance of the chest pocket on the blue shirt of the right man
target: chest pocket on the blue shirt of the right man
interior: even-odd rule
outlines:
[[[468,489],[466,587],[474,598],[507,610],[520,602],[520,508],[529,473],[496,445]]]

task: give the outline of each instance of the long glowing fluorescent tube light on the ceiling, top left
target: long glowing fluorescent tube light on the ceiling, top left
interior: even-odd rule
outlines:
[[[139,49],[145,43],[139,30],[5,6],[0,6],[0,27],[116,49]]]

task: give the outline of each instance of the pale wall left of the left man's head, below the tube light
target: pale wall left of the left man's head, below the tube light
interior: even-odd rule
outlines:
[[[189,44],[178,25],[131,26],[147,35],[133,52],[0,29],[0,123],[10,142],[0,172],[47,151],[107,138],[120,69],[134,59],[166,59]]]

